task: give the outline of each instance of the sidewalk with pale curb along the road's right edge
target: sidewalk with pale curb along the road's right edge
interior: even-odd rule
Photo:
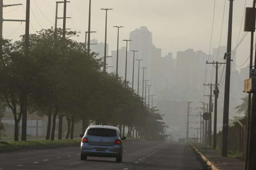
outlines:
[[[224,158],[218,150],[207,148],[206,153],[202,145],[190,145],[200,154],[202,159],[212,167],[212,170],[244,170],[244,162],[238,158]]]

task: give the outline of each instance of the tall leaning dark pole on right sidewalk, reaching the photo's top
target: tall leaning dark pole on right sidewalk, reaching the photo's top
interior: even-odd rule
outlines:
[[[230,96],[230,63],[231,63],[231,43],[232,43],[232,20],[233,20],[233,0],[230,0],[228,19],[228,45],[226,53],[226,78],[224,92],[223,125],[222,125],[222,148],[221,156],[228,156],[228,112]]]

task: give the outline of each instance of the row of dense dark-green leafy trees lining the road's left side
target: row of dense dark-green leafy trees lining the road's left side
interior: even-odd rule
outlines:
[[[24,35],[20,41],[1,40],[0,98],[14,116],[14,141],[19,140],[18,123],[28,113],[48,118],[46,140],[62,134],[63,119],[68,122],[66,139],[74,139],[78,122],[82,122],[81,133],[89,124],[114,125],[127,137],[165,139],[166,125],[158,109],[147,108],[129,82],[103,72],[102,60],[93,52],[88,56],[84,43],[71,39],[76,36],[77,32],[67,31],[63,40],[62,29],[42,29],[30,34],[26,56]],[[22,121],[22,140],[26,140],[26,126]]]

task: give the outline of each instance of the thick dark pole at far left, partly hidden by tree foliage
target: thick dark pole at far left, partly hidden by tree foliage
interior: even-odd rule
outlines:
[[[26,1],[26,28],[25,28],[25,57],[28,57],[29,55],[29,21],[30,21],[30,0],[27,0]],[[27,108],[24,108],[24,111],[22,113],[22,134],[21,134],[22,141],[26,141],[27,139],[27,115],[28,115]]]

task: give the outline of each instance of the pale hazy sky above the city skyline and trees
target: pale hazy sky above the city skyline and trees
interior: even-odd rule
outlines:
[[[88,30],[89,0],[70,1],[71,3],[67,5],[67,17],[72,17],[72,20],[67,19],[67,28],[81,31],[81,36],[78,39],[83,42],[84,31]],[[224,1],[216,0],[212,48],[217,48],[219,45]],[[37,31],[54,26],[56,0],[30,0],[30,2],[30,32],[34,33],[32,27]],[[233,48],[238,39],[244,2],[245,0],[234,1]],[[26,8],[26,0],[4,0],[4,4],[17,3],[23,3]],[[246,7],[250,6],[252,6],[252,0],[247,0]],[[109,51],[116,50],[117,30],[112,26],[122,25],[125,28],[120,32],[120,39],[128,39],[129,33],[135,28],[147,26],[153,34],[154,45],[157,48],[162,48],[162,56],[173,52],[176,57],[176,51],[184,51],[188,48],[209,53],[213,7],[214,0],[92,0],[91,30],[97,31],[96,34],[92,34],[92,38],[98,39],[99,42],[104,41],[105,12],[100,8],[113,8],[114,10],[108,12],[107,42],[110,46]],[[4,8],[4,19],[25,19],[22,6],[14,10],[16,8]],[[11,12],[12,10],[14,11]],[[221,45],[227,43],[228,10],[229,0],[226,0]],[[59,6],[58,16],[63,16],[62,4]],[[62,27],[62,20],[58,20],[58,25]],[[3,27],[4,38],[17,40],[19,35],[24,33],[20,22],[4,22]],[[25,23],[23,23],[23,27],[25,27]],[[244,34],[243,27],[242,24],[240,38]],[[244,63],[247,59],[249,41],[250,33],[238,48],[237,65]],[[124,45],[125,43],[120,42],[120,46]]]

